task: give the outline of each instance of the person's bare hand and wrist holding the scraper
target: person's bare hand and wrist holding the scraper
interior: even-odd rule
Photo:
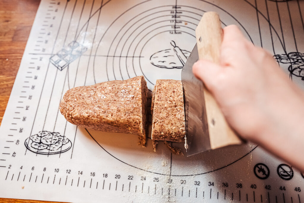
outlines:
[[[242,138],[304,169],[304,160],[298,164],[275,146],[304,153],[304,93],[270,53],[246,40],[237,26],[227,26],[223,29],[220,64],[199,60],[193,65],[193,73],[204,82],[227,122]]]

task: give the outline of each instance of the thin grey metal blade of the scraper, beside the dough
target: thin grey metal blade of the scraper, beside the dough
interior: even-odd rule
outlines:
[[[210,150],[203,83],[192,73],[192,65],[199,60],[197,46],[195,44],[182,71],[181,81],[184,90],[185,105],[185,147],[187,157]]]

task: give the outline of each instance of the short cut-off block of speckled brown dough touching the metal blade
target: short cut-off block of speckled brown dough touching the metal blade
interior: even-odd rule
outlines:
[[[185,111],[181,81],[157,80],[154,91],[151,139],[184,142]]]

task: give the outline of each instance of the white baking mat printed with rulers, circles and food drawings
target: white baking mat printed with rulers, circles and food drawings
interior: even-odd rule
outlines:
[[[144,75],[178,79],[206,11],[271,51],[304,87],[302,1],[42,0],[0,127],[0,196],[67,202],[304,202],[303,174],[254,144],[193,157],[76,127],[70,88]],[[38,141],[37,141],[38,140]],[[172,143],[182,147],[182,144]],[[282,150],[285,150],[282,146]]]

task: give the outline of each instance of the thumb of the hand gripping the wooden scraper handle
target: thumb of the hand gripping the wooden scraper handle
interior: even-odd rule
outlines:
[[[203,81],[209,91],[213,91],[216,87],[216,77],[221,70],[222,67],[220,65],[207,60],[198,60],[192,66],[192,72],[195,77]]]

